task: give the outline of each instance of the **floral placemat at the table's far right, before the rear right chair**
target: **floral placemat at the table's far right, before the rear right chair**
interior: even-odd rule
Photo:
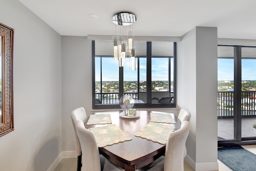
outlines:
[[[170,113],[150,112],[150,121],[158,123],[176,123]]]

